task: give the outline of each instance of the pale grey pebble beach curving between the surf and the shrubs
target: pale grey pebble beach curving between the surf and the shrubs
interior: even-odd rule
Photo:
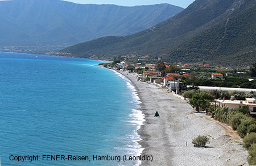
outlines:
[[[141,165],[248,165],[248,153],[241,140],[236,139],[236,132],[230,135],[225,130],[229,126],[220,125],[205,114],[193,113],[186,101],[167,89],[137,81],[134,74],[119,73],[133,82],[145,114],[146,121],[138,130],[143,139],[139,143],[144,148],[142,155],[152,155],[153,161],[142,161]],[[154,118],[155,111],[160,118]],[[208,148],[193,147],[192,139],[198,135],[209,136]]]

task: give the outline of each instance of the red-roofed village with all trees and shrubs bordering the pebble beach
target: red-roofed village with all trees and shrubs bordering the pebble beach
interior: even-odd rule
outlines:
[[[250,147],[256,143],[256,63],[243,69],[162,61],[144,64],[115,60],[99,65],[133,76],[147,88],[155,85],[166,89],[172,96],[189,103],[195,113],[205,113],[214,122],[229,126],[230,132],[249,150],[248,162],[255,159]]]

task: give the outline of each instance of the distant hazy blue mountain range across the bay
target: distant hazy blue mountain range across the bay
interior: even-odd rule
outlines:
[[[130,35],[180,13],[169,5],[81,5],[60,0],[0,1],[0,45],[71,45]]]

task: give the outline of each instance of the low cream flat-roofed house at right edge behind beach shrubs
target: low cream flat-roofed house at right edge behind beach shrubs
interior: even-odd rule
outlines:
[[[245,101],[217,99],[217,102],[219,106],[228,107],[229,109],[247,107],[250,110],[251,114],[256,115],[256,99],[255,98],[246,98]]]

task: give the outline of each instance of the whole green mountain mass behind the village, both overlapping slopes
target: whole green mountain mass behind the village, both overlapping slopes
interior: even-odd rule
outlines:
[[[63,49],[72,56],[160,57],[172,63],[255,63],[255,0],[196,0],[181,13],[128,36],[106,36]]]

